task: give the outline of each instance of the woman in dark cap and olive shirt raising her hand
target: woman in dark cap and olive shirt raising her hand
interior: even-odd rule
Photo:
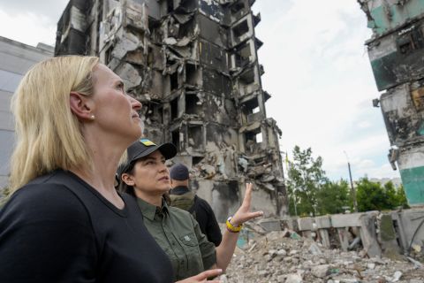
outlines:
[[[174,279],[230,264],[244,222],[262,215],[250,212],[252,185],[247,184],[244,201],[227,221],[227,231],[218,247],[201,233],[199,224],[186,210],[170,207],[163,194],[170,190],[170,174],[165,160],[174,157],[177,149],[172,143],[155,145],[147,139],[134,142],[127,149],[128,162],[119,172],[120,189],[137,198],[144,224],[155,241],[170,257]]]

